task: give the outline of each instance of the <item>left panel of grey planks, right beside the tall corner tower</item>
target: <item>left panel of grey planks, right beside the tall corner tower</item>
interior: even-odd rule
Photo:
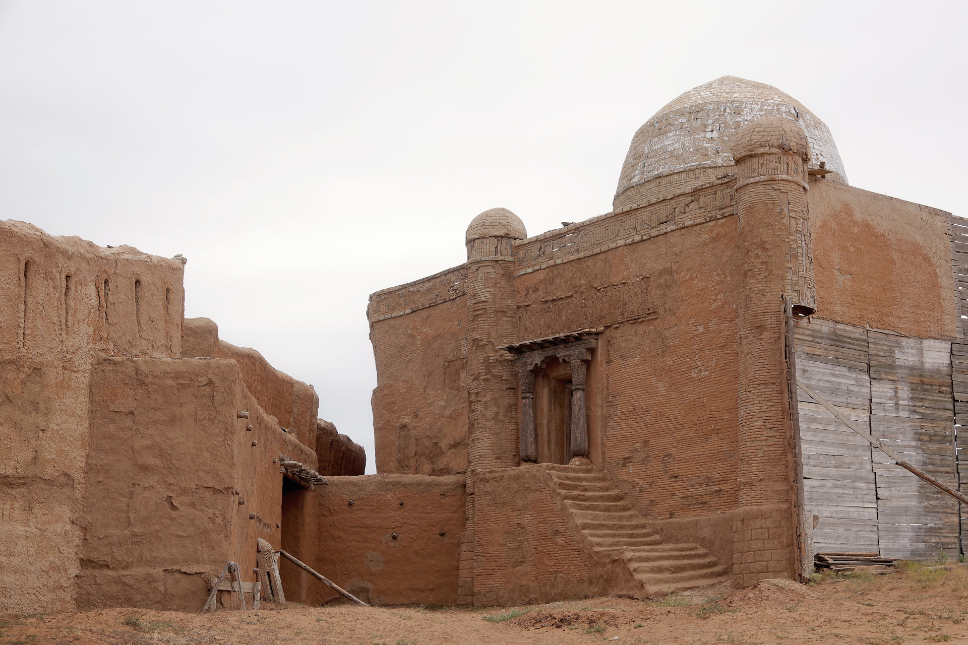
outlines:
[[[866,330],[827,321],[795,323],[797,378],[867,429],[870,379]],[[878,550],[871,447],[798,390],[803,507],[820,515],[815,552]]]

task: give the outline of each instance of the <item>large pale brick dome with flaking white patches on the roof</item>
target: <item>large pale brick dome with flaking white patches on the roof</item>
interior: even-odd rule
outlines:
[[[823,162],[835,173],[829,179],[847,183],[843,162],[823,121],[771,85],[723,76],[681,94],[635,132],[621,167],[615,208],[651,201],[660,196],[658,192],[668,197],[670,191],[690,191],[729,173],[710,169],[733,165],[735,133],[766,116],[799,123],[809,142],[809,167]],[[656,191],[660,186],[662,190]]]

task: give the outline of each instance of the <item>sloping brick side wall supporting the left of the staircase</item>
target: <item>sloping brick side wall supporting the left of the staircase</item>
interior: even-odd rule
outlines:
[[[627,569],[587,548],[540,465],[474,475],[474,604],[534,604],[631,591]]]

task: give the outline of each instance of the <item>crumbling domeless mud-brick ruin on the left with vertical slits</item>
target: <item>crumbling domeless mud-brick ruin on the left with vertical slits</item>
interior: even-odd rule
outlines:
[[[362,449],[214,323],[183,352],[183,258],[12,220],[0,258],[4,611],[197,609],[229,559],[255,581],[258,538],[313,548],[279,455],[317,469],[324,443],[327,467],[361,473]]]

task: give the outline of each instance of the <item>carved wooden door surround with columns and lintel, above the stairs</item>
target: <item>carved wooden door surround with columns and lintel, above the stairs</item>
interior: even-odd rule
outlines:
[[[589,463],[585,378],[597,334],[561,334],[503,345],[521,384],[522,462]]]

